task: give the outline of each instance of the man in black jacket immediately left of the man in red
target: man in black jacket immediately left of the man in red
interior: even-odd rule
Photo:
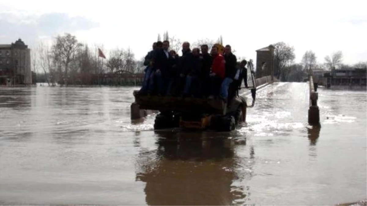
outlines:
[[[203,58],[202,60],[202,69],[201,69],[201,77],[200,77],[200,83],[201,83],[201,94],[204,97],[208,97],[210,95],[210,68],[213,62],[212,56],[208,53],[209,48],[208,45],[203,44],[201,45],[201,56]]]

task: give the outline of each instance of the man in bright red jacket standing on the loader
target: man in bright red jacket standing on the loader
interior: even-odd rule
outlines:
[[[219,95],[219,89],[225,77],[225,60],[221,54],[218,54],[218,47],[213,46],[211,48],[211,55],[213,58],[213,63],[211,65],[211,70],[209,74],[211,79],[211,95],[209,96],[210,99],[214,98],[214,96]]]

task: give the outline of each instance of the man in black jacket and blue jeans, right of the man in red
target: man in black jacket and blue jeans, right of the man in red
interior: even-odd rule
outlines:
[[[227,102],[228,99],[228,88],[229,85],[233,82],[233,78],[236,74],[236,65],[237,65],[237,58],[234,54],[232,54],[230,45],[226,45],[224,48],[224,58],[225,58],[225,78],[221,85],[221,92],[220,98]]]

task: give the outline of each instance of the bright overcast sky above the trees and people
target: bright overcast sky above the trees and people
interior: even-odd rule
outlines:
[[[309,49],[319,62],[338,50],[344,63],[367,61],[366,0],[0,0],[0,8],[0,44],[21,37],[32,45],[70,32],[106,52],[130,46],[140,59],[167,30],[190,43],[222,35],[246,59],[284,41],[294,46],[297,62]]]

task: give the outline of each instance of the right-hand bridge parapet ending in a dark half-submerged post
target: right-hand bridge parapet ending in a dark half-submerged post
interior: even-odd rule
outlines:
[[[318,93],[315,91],[315,85],[313,84],[313,78],[310,76],[310,103],[308,109],[308,124],[312,126],[320,126],[320,110],[317,106],[317,99],[319,98]]]

